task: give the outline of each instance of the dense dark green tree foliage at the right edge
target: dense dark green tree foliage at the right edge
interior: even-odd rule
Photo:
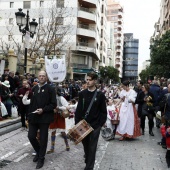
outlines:
[[[165,76],[170,73],[170,31],[167,31],[160,39],[150,45],[151,64],[139,74],[141,80],[146,81],[149,75]]]

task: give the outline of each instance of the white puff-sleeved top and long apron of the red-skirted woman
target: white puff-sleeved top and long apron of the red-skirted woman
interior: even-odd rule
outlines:
[[[134,132],[134,111],[132,103],[129,103],[131,100],[133,103],[136,99],[136,92],[132,89],[129,91],[122,90],[120,93],[120,98],[125,96],[124,102],[122,102],[120,107],[120,123],[117,127],[117,132],[121,135],[133,135]]]

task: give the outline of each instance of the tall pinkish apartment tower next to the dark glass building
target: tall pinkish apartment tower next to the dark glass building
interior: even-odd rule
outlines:
[[[123,7],[114,0],[107,1],[107,20],[114,24],[115,59],[114,67],[123,75]]]

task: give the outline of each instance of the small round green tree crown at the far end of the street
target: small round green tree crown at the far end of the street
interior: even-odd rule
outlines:
[[[112,80],[113,82],[119,82],[119,71],[111,66],[100,67],[100,76],[103,80],[108,81],[108,79]]]

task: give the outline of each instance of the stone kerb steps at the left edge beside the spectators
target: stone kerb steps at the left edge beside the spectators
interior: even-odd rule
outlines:
[[[0,121],[0,136],[21,127],[21,117]]]

